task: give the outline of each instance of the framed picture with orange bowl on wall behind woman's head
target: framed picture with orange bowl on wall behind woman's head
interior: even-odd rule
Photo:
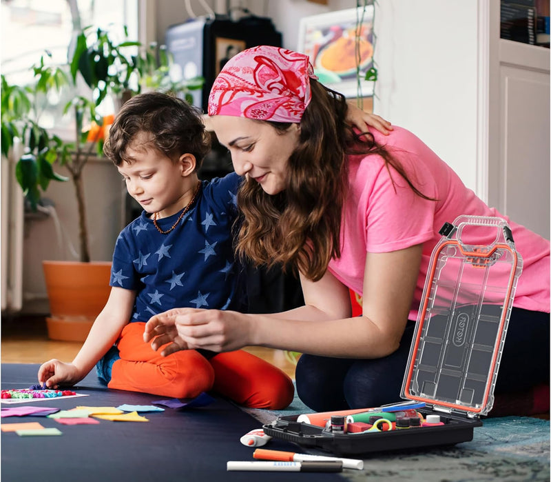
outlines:
[[[348,98],[373,96],[373,82],[364,80],[373,66],[372,5],[303,17],[298,51],[325,86]]]

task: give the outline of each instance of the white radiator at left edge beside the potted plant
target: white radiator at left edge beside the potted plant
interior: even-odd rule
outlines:
[[[24,204],[13,160],[18,158],[1,158],[1,301],[2,311],[8,312],[23,306]]]

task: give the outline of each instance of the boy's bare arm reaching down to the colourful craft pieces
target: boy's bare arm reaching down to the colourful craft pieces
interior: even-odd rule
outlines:
[[[94,321],[90,333],[71,363],[57,359],[46,361],[39,368],[38,379],[48,388],[74,385],[94,368],[94,365],[111,348],[132,315],[136,292],[124,288],[111,288],[107,303]]]

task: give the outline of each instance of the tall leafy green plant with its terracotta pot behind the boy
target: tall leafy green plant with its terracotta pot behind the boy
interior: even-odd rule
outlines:
[[[28,86],[10,84],[1,76],[1,152],[8,156],[15,144],[21,144],[23,154],[15,172],[31,210],[41,205],[50,181],[72,181],[79,219],[80,258],[44,261],[43,268],[52,315],[47,319],[50,337],[81,340],[110,292],[111,263],[90,262],[83,184],[85,165],[101,156],[105,133],[113,121],[113,116],[98,115],[98,106],[107,97],[121,105],[142,88],[173,90],[189,101],[188,91],[201,88],[202,79],[172,79],[173,63],[164,47],[157,48],[153,43],[146,50],[141,49],[141,44],[128,41],[126,34],[125,40],[116,43],[101,28],[79,31],[69,51],[63,66],[48,65],[48,53],[43,54],[33,66],[34,81]],[[65,106],[64,112],[72,112],[74,116],[74,137],[66,141],[43,128],[41,112],[49,95],[59,95],[66,89],[76,92],[82,83],[90,94],[74,95]],[[63,166],[68,177],[57,174],[56,165]],[[63,274],[59,274],[58,268],[63,268]],[[87,270],[84,274],[83,269]],[[91,286],[85,285],[88,281]],[[87,307],[81,303],[86,299],[90,302]]]

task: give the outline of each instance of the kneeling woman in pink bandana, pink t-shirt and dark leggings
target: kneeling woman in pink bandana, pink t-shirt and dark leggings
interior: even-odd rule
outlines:
[[[439,229],[459,214],[501,215],[412,133],[362,134],[346,124],[346,112],[344,97],[316,81],[298,52],[259,46],[225,65],[209,115],[246,177],[237,250],[298,271],[305,305],[270,315],[171,310],[146,325],[155,350],[167,342],[163,354],[293,350],[304,353],[296,385],[313,410],[399,400]],[[524,268],[496,392],[549,379],[550,245],[508,222]],[[360,317],[352,317],[349,290],[363,297]],[[530,360],[529,369],[520,360]]]

